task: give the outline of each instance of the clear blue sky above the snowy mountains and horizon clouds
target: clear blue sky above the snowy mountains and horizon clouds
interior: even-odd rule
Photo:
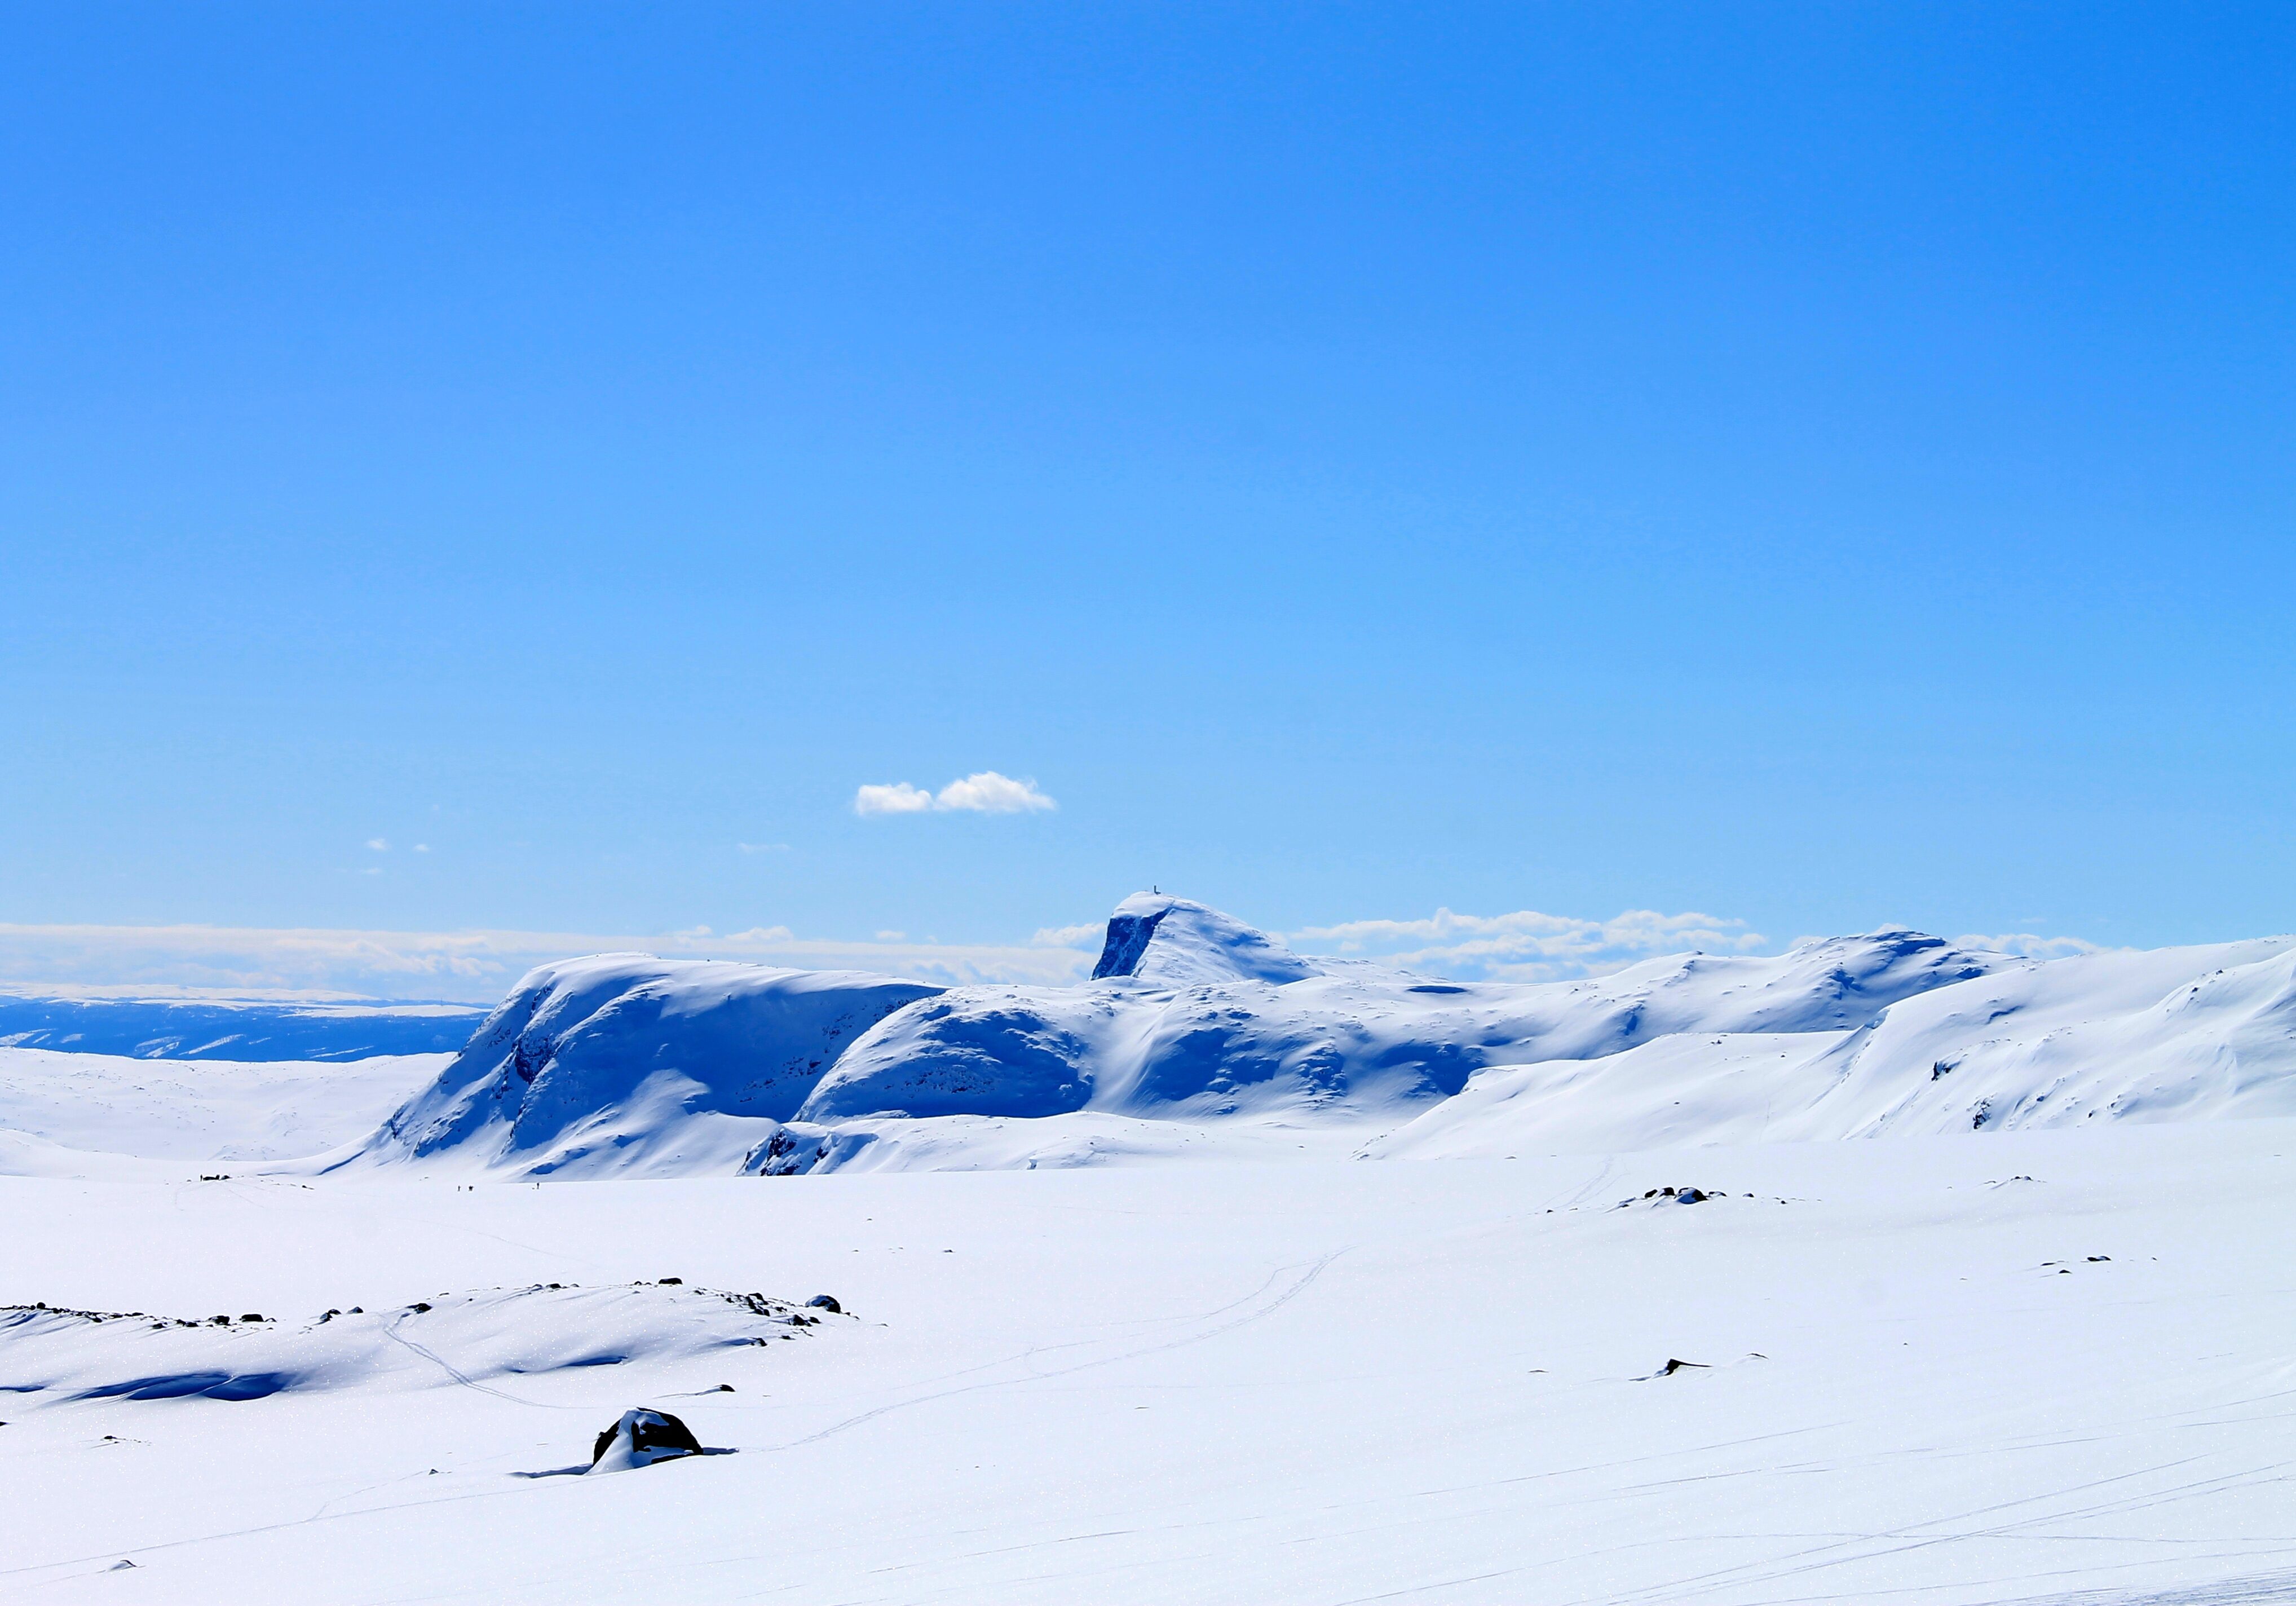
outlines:
[[[7,37],[18,974],[2291,924],[2287,7]]]

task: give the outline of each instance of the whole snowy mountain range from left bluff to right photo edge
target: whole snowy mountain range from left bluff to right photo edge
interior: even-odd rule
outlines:
[[[2030,960],[1903,928],[1456,983],[1125,898],[1091,981],[544,965],[328,1167],[510,1176],[1508,1156],[2296,1114],[2296,940]],[[44,1167],[62,1165],[57,1156]]]

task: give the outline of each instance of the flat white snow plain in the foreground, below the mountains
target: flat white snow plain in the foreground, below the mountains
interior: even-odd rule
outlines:
[[[11,1298],[262,1312],[200,1335],[250,1358],[360,1305],[422,1346],[131,1399],[85,1395],[140,1356],[0,1342],[0,1381],[60,1385],[0,1395],[0,1599],[2287,1599],[2291,1183],[2280,1119],[1515,1163],[0,1179]],[[549,1365],[558,1305],[498,1291],[551,1282],[654,1314],[615,1362]],[[850,1319],[675,1339],[654,1317],[696,1284]],[[549,1475],[634,1406],[735,1454]]]

